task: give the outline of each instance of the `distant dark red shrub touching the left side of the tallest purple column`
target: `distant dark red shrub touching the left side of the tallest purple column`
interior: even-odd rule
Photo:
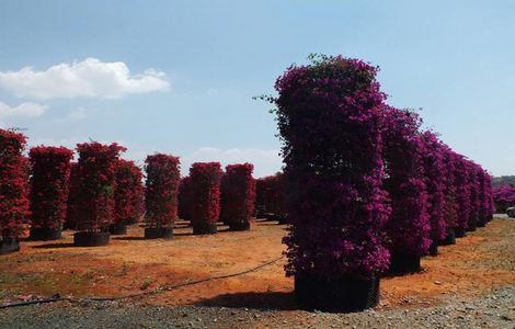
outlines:
[[[274,175],[264,177],[255,183],[255,206],[262,214],[274,215],[274,217],[285,218],[285,181],[284,174],[277,172]]]

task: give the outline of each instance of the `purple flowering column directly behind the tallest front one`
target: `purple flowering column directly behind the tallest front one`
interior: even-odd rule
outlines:
[[[387,231],[392,256],[423,256],[431,245],[420,125],[415,113],[385,110],[385,189],[391,203]]]

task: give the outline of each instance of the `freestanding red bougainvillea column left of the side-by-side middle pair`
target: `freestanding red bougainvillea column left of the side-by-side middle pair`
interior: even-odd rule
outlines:
[[[178,194],[181,180],[180,159],[157,154],[145,160],[146,222],[150,227],[172,227],[178,217]]]

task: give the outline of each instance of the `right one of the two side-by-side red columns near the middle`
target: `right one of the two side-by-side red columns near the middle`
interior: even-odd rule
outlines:
[[[229,164],[221,179],[220,218],[231,229],[248,229],[254,213],[255,181],[251,163]]]

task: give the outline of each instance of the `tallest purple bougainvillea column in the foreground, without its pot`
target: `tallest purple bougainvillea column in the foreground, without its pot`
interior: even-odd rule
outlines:
[[[377,68],[362,60],[311,57],[277,79],[288,182],[286,275],[369,280],[388,268],[381,190],[381,103]]]

